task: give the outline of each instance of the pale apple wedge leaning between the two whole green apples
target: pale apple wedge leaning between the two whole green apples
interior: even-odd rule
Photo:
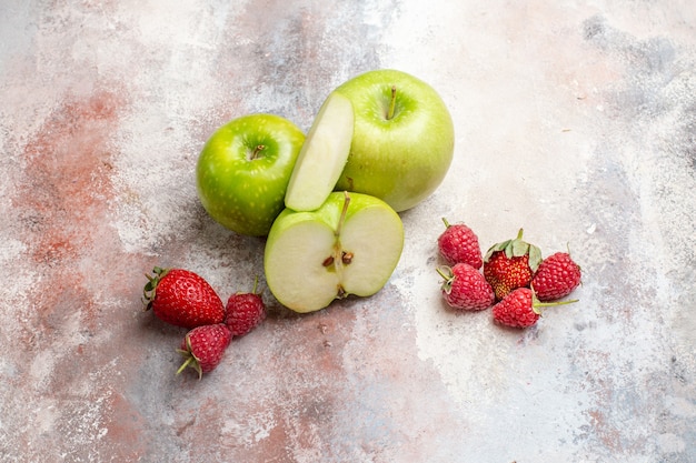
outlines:
[[[285,197],[287,208],[314,211],[324,204],[348,160],[354,125],[350,100],[340,93],[330,93],[292,169]]]

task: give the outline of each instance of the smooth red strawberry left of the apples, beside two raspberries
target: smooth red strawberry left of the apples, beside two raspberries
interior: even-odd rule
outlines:
[[[143,289],[146,310],[152,309],[160,320],[177,326],[222,323],[225,305],[206,280],[181,269],[156,266],[153,275],[146,275]]]

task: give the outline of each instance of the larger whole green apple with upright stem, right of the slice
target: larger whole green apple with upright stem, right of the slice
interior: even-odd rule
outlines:
[[[336,191],[371,194],[397,212],[429,197],[445,179],[455,149],[451,115],[435,89],[408,73],[382,69],[335,91],[355,110],[350,154]]]

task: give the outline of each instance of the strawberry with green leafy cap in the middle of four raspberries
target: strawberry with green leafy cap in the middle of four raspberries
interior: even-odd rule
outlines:
[[[541,262],[541,251],[517,238],[494,244],[484,258],[484,276],[500,301],[517,288],[527,288]]]

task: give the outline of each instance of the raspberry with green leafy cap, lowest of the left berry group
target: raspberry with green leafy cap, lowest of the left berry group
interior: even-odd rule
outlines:
[[[203,373],[209,373],[222,360],[222,354],[232,340],[232,333],[225,323],[197,326],[189,331],[177,350],[183,355],[183,363],[177,370],[177,374],[187,366],[198,372],[198,379]]]

